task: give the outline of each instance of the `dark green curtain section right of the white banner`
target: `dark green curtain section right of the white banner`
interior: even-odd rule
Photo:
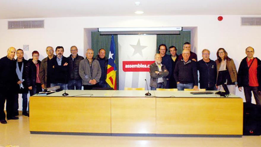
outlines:
[[[180,55],[183,50],[183,44],[190,42],[190,31],[179,31],[179,33],[180,35],[157,35],[157,47],[160,44],[165,44],[168,48],[174,45],[177,48],[177,54]],[[167,54],[170,55],[169,52]]]

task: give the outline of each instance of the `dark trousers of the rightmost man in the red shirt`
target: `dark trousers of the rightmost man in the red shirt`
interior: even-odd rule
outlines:
[[[245,93],[246,102],[251,103],[251,97],[252,97],[251,91],[253,91],[254,98],[256,100],[257,105],[261,105],[261,95],[258,92],[258,87],[244,86],[244,93]]]

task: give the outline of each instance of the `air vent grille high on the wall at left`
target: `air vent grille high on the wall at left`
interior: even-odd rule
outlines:
[[[8,21],[8,29],[44,28],[44,20]]]

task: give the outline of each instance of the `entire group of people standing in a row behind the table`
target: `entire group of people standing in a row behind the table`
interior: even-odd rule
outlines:
[[[167,55],[168,51],[171,55]],[[226,84],[230,93],[235,94],[235,88],[239,91],[244,87],[246,102],[251,102],[252,91],[257,105],[261,105],[261,61],[254,57],[254,48],[247,47],[245,57],[239,66],[238,73],[233,59],[227,56],[224,48],[217,50],[217,60],[209,59],[210,51],[202,50],[200,61],[197,55],[191,51],[189,42],[183,45],[182,55],[177,55],[177,48],[165,44],[158,47],[155,54],[155,62],[150,65],[150,87],[177,88],[184,90],[190,88],[198,90],[198,71],[200,88],[206,90],[223,90],[217,86],[219,71],[227,70],[229,76]],[[33,51],[32,58],[24,59],[22,49],[16,50],[10,47],[7,56],[0,59],[0,121],[6,124],[7,120],[19,119],[18,94],[23,98],[23,115],[27,112],[27,96],[34,95],[48,87],[60,86],[61,89],[91,90],[93,88],[107,88],[106,73],[108,59],[105,57],[106,50],[101,48],[94,58],[93,49],[86,50],[86,59],[78,55],[76,46],[71,46],[71,55],[64,57],[64,48],[51,46],[46,48],[47,57],[39,61],[39,52]],[[17,59],[15,59],[15,53]],[[6,103],[7,115],[4,112]]]

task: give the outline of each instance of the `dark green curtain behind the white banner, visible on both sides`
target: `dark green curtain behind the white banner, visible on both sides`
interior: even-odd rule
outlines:
[[[176,46],[177,48],[177,54],[181,54],[183,50],[183,43],[190,42],[190,31],[179,31],[180,35],[157,35],[157,47],[160,44],[165,44],[167,47],[170,47],[172,45]],[[109,56],[110,51],[110,45],[111,45],[111,35],[100,35],[100,32],[93,31],[92,32],[92,49],[94,50],[94,56],[98,55],[98,51],[101,48],[104,48],[106,50],[106,57]],[[116,49],[116,67],[117,67],[117,89],[119,84],[119,64],[118,64],[118,36],[114,35],[114,42],[115,42],[115,49]],[[156,49],[157,50],[157,49]],[[158,52],[158,51],[157,51]],[[167,52],[167,54],[170,54]]]

